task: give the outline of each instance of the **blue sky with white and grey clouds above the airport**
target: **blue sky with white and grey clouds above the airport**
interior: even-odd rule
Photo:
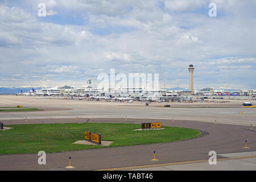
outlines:
[[[193,64],[195,88],[256,89],[255,9],[255,0],[1,0],[0,87],[84,86],[115,68],[188,88]]]

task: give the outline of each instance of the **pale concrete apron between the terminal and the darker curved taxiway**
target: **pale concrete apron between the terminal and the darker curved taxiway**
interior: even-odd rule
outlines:
[[[230,101],[234,105],[242,105],[243,101]],[[47,108],[46,111],[31,112],[0,112],[2,120],[11,119],[50,119],[50,118],[154,118],[154,119],[179,119],[201,122],[226,123],[232,125],[256,126],[256,108],[241,107],[217,107],[217,108],[193,108],[193,106],[230,106],[226,104],[180,104],[170,103],[173,106],[184,105],[186,107],[154,107],[164,104],[144,103],[119,103],[106,101],[79,101],[63,100],[51,97],[26,97],[26,96],[0,96],[1,106]]]

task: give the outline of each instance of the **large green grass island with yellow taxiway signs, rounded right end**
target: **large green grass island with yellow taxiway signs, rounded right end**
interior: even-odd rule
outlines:
[[[101,134],[102,140],[114,141],[110,147],[172,142],[198,137],[193,129],[162,126],[164,130],[133,131],[141,125],[131,123],[61,123],[9,125],[14,129],[0,131],[0,154],[27,154],[38,151],[63,152],[103,148],[72,144],[84,140],[84,131]]]

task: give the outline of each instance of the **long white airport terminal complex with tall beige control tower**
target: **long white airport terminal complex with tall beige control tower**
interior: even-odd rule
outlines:
[[[131,97],[133,100],[191,100],[191,98],[220,98],[220,99],[255,99],[256,90],[224,90],[204,88],[201,90],[194,89],[193,74],[195,67],[190,64],[188,66],[189,72],[189,90],[146,90],[146,88],[109,88],[108,91],[104,88],[97,88],[92,86],[92,79],[86,80],[85,87],[71,87],[61,86],[56,88],[43,88],[35,90],[36,95],[41,96],[109,96],[114,97]],[[240,98],[241,97],[241,98]]]

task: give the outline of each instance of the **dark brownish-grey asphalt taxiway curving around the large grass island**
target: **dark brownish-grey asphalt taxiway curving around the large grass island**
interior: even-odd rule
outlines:
[[[58,121],[59,120],[59,121]],[[76,120],[76,119],[75,119]],[[85,119],[77,119],[75,122],[86,122]],[[118,122],[118,123],[142,123],[152,122],[155,119],[90,119],[89,122]],[[256,151],[256,133],[247,126],[225,125],[197,121],[158,120],[162,125],[175,127],[189,127],[205,131],[204,137],[180,142],[168,142],[139,146],[127,146],[117,148],[101,148],[95,150],[69,151],[55,154],[47,154],[47,165],[39,165],[36,154],[1,155],[0,170],[64,170],[68,166],[68,158],[72,157],[72,165],[76,170],[111,169],[132,166],[145,166],[151,164],[164,164],[185,162],[191,160],[209,159],[208,152],[216,151],[218,154],[234,152]],[[23,120],[10,121],[12,124],[22,124]],[[30,119],[29,123],[63,122],[62,119]],[[74,119],[64,122],[74,122]],[[254,127],[254,130],[255,127]],[[249,149],[245,149],[245,140]],[[153,151],[156,151],[158,162],[151,162]],[[217,156],[224,158],[224,156]],[[256,170],[256,165],[253,170]]]

